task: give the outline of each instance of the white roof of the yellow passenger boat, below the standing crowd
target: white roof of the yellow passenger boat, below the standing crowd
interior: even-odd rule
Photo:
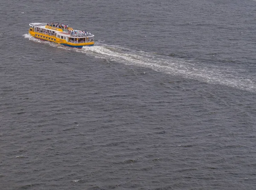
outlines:
[[[56,27],[48,26],[47,23],[30,23],[29,26],[31,26],[31,27],[38,27],[38,28],[42,28],[42,29],[47,29],[47,30],[50,30],[50,31],[55,31],[57,34],[61,34],[62,36],[65,36],[65,37],[83,38],[83,37],[93,37],[94,36],[93,34],[90,34],[90,33],[81,34],[80,33],[81,30],[74,30],[73,28],[72,29],[74,31],[78,31],[78,34],[71,35],[67,31],[63,31],[61,28],[56,28]]]

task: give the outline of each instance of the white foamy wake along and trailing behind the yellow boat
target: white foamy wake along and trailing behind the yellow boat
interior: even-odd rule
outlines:
[[[49,45],[66,48],[55,43],[44,42],[33,38],[29,34],[24,34],[29,40],[47,43]],[[144,51],[133,51],[114,45],[96,44],[93,47],[83,47],[82,49],[68,48],[70,51],[84,53],[101,59],[121,62],[125,65],[136,65],[151,68],[154,71],[163,72],[189,79],[196,79],[201,82],[227,85],[241,90],[256,92],[255,76],[247,74],[241,68],[217,67],[210,63],[197,63],[183,59],[161,56]]]

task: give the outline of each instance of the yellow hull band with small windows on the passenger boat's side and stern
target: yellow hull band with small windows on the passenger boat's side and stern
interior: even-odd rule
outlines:
[[[59,39],[59,38],[57,38],[55,36],[51,36],[51,35],[48,35],[48,34],[42,34],[42,33],[35,32],[33,30],[30,30],[30,29],[29,29],[29,34],[32,37],[38,38],[40,40],[45,40],[45,41],[50,41],[50,42],[54,42],[54,43],[59,43],[59,44],[66,45],[66,46],[69,46],[69,47],[72,47],[72,48],[82,48],[83,46],[92,46],[92,45],[94,45],[94,42],[70,43],[70,42],[67,42],[66,40]]]

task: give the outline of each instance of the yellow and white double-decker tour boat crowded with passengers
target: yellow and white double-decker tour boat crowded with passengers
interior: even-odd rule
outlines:
[[[90,32],[74,30],[63,23],[30,23],[29,34],[40,40],[60,43],[72,48],[94,45]]]

